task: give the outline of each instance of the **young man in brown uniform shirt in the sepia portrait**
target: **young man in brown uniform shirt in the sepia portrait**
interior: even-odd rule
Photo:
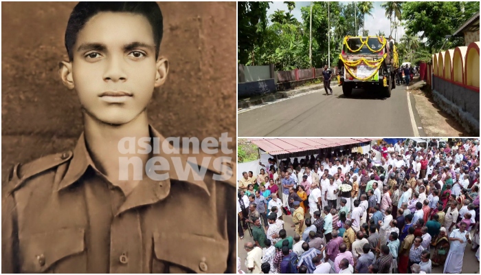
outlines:
[[[3,273],[235,272],[236,184],[224,177],[233,164],[199,162],[148,124],[146,106],[168,74],[162,33],[155,2],[74,8],[60,76],[78,94],[84,132],[73,151],[10,172]],[[138,141],[133,151],[122,151],[125,137]]]

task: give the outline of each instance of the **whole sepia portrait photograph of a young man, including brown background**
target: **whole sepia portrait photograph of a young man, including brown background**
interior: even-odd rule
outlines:
[[[236,2],[1,8],[2,273],[235,273]]]

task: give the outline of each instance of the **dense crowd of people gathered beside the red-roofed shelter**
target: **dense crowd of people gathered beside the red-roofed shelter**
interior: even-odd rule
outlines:
[[[478,142],[381,142],[243,173],[238,273],[462,272],[468,243],[479,262]]]

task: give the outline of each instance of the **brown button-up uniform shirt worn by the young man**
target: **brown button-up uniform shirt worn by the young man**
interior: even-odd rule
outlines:
[[[172,157],[186,157],[161,156],[170,178],[144,177],[127,197],[95,167],[83,134],[73,153],[15,166],[2,196],[2,272],[234,273],[235,182],[211,170],[181,181]]]

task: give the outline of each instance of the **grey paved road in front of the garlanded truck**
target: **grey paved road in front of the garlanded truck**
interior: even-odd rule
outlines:
[[[238,113],[239,137],[412,137],[405,86],[390,98],[376,91],[354,89],[350,98],[334,86],[294,98],[269,102]]]

